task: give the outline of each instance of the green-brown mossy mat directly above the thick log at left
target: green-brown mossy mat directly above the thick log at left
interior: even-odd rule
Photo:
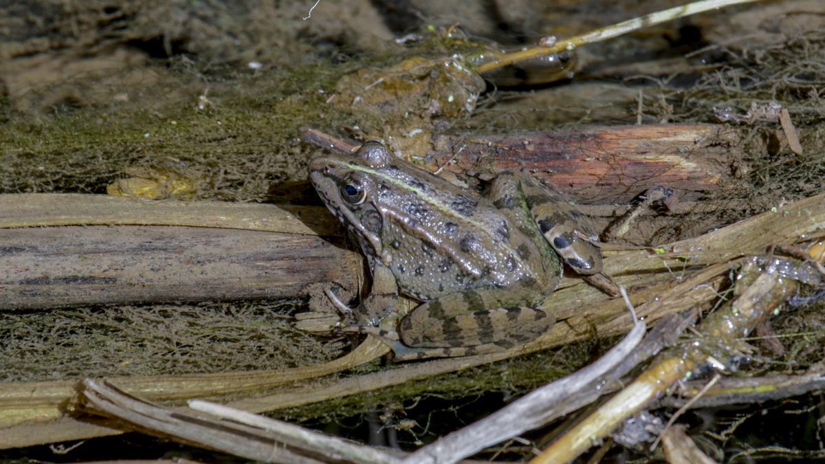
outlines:
[[[328,95],[319,92],[331,90],[340,72],[307,66],[217,85],[181,76],[187,91],[161,107],[153,100],[163,98],[157,91],[144,96],[150,108],[120,102],[16,115],[0,127],[0,188],[102,193],[127,168],[175,168],[202,178],[196,198],[261,200],[271,182],[305,177],[316,149],[299,143],[300,125],[352,124],[346,114],[328,111]]]

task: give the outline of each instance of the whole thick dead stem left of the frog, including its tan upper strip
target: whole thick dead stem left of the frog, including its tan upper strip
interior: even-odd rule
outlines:
[[[0,310],[359,288],[361,253],[341,234],[315,206],[0,195]]]

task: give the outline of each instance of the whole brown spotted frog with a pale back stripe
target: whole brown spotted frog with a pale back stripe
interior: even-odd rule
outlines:
[[[358,324],[396,359],[488,353],[534,339],[554,323],[539,308],[559,284],[562,260],[582,274],[601,271],[575,211],[526,174],[500,173],[482,195],[378,142],[314,159],[309,172],[370,263],[373,289],[355,310]],[[422,304],[397,330],[379,329],[395,318],[398,291]]]

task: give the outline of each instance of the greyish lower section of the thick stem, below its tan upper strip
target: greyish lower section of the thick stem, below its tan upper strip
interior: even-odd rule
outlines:
[[[295,297],[361,284],[361,254],[314,235],[179,226],[0,229],[0,310]]]

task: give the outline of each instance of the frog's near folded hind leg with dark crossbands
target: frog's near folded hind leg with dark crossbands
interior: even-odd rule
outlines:
[[[526,305],[504,307],[512,291],[482,288],[418,305],[398,326],[403,343],[392,344],[395,360],[492,353],[544,334],[554,317]]]

